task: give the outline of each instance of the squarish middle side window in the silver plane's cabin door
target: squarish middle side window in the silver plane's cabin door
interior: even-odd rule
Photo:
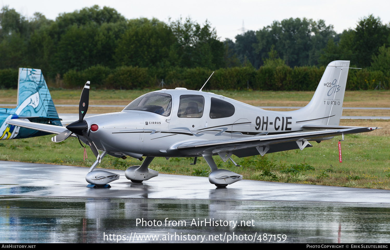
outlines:
[[[180,96],[178,117],[200,118],[203,115],[204,97],[196,94]]]

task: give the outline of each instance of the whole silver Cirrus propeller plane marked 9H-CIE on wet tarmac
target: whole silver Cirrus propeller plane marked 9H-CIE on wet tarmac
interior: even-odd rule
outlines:
[[[89,102],[90,82],[87,82],[80,98],[79,120],[66,128],[27,119],[7,123],[57,134],[53,142],[76,136],[87,143],[97,158],[86,176],[88,186],[107,187],[119,179],[117,174],[94,170],[109,154],[141,161],[146,157],[140,166],[125,171],[132,182],[158,176],[157,171],[148,168],[154,157],[195,157],[193,164],[197,157],[204,157],[211,168],[209,181],[217,187],[226,187],[242,180],[242,175],[218,169],[212,156],[219,155],[227,161],[232,160],[233,154],[246,157],[303,150],[312,147],[310,142],[377,129],[339,126],[348,69],[349,61],[329,63],[310,103],[294,111],[268,111],[202,89],[176,88],[144,94],[121,112],[84,119]]]

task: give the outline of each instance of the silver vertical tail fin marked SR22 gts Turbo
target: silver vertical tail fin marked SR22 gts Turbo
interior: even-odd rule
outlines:
[[[319,125],[339,126],[342,114],[349,61],[333,61],[328,64],[312,100],[297,110],[307,122]]]

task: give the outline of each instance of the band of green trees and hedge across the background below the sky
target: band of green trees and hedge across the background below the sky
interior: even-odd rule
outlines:
[[[388,83],[389,45],[390,26],[372,15],[341,34],[324,20],[284,19],[233,42],[220,41],[207,20],[126,19],[97,5],[49,20],[6,6],[0,13],[0,87],[16,87],[17,68],[29,67],[62,87],[90,80],[97,87],[133,89],[163,79],[168,86],[195,87],[216,71],[210,89],[308,90],[323,66],[345,59],[364,68],[350,73],[347,88],[369,89],[376,81]]]

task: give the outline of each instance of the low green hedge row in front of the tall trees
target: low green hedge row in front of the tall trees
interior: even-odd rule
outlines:
[[[216,70],[204,89],[224,90],[315,90],[324,73],[324,67],[304,66],[290,68],[289,66],[232,67]],[[155,88],[161,80],[165,87],[186,87],[199,90],[213,73],[207,68],[139,68],[122,66],[110,69],[104,66],[92,66],[76,72],[70,70],[63,76],[65,87],[82,87],[87,80],[92,87],[107,89],[143,89]],[[347,89],[375,89],[379,82],[389,89],[390,72],[370,71],[368,69],[350,69]],[[16,88],[18,70],[0,70],[0,87]]]

